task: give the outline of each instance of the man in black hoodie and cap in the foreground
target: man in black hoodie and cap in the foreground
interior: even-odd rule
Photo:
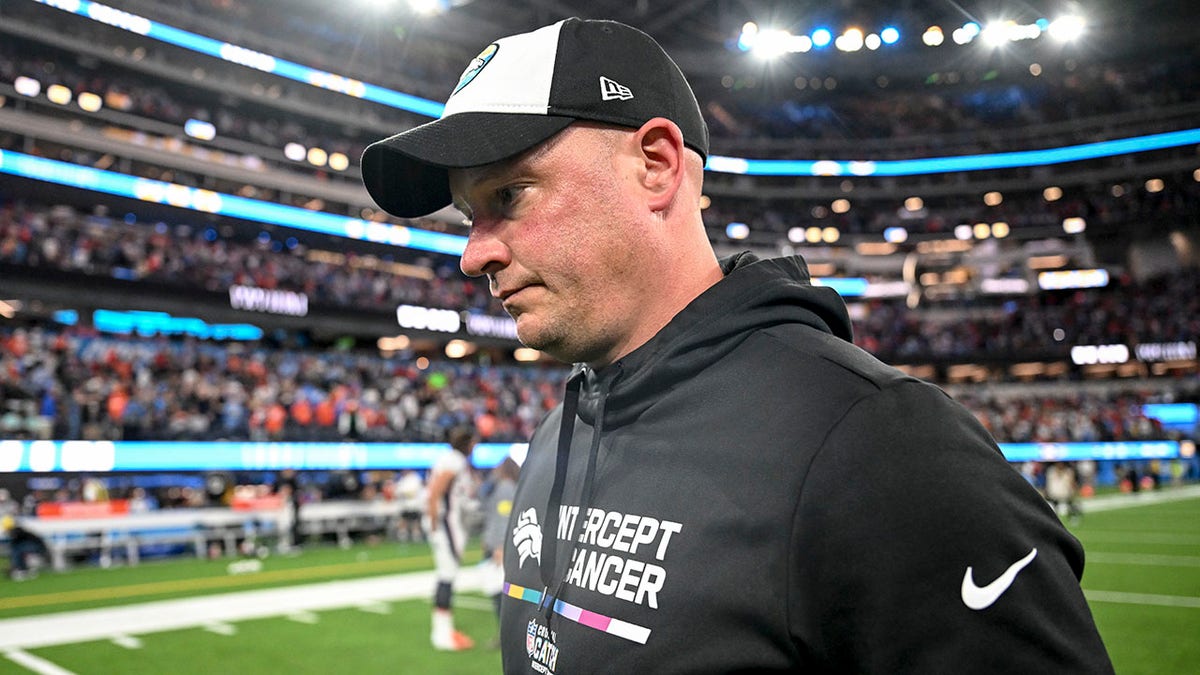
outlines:
[[[1111,671],[1079,543],[974,418],[799,257],[716,259],[707,151],[650,37],[568,19],[364,155],[389,211],[463,210],[463,271],[577,364],[521,470],[505,671]]]

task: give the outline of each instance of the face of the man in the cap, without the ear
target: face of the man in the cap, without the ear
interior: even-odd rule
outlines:
[[[488,276],[523,344],[564,362],[622,356],[647,286],[625,133],[572,126],[516,160],[450,172],[472,220],[462,270]]]

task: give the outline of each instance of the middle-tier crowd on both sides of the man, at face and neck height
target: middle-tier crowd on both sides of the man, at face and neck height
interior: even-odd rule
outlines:
[[[419,277],[358,264],[353,253],[335,263],[313,259],[306,251],[277,239],[226,238],[214,228],[139,223],[65,207],[0,205],[0,265],[14,271],[50,268],[217,292],[233,285],[280,288],[304,292],[314,303],[378,311],[414,303],[503,313],[486,285],[464,277],[452,257],[414,258],[427,273]],[[958,305],[995,311],[947,321],[913,311],[902,299],[875,299],[856,323],[856,340],[893,360],[1020,358],[1078,344],[1194,341],[1200,336],[1200,273],[1182,268],[1145,282],[1117,276],[1104,288],[974,298]]]

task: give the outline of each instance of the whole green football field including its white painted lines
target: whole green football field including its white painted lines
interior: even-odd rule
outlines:
[[[1094,507],[1072,530],[1117,673],[1200,673],[1200,492],[1116,495]],[[307,546],[256,567],[176,558],[0,581],[0,674],[499,670],[496,617],[479,593],[457,593],[455,609],[475,649],[428,646],[422,545]]]

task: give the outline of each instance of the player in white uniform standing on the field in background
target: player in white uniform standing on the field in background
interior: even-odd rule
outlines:
[[[454,627],[450,601],[454,580],[462,565],[462,548],[467,532],[462,524],[462,507],[468,498],[470,483],[470,452],[475,432],[455,428],[449,434],[450,449],[438,455],[430,470],[426,492],[425,531],[433,550],[437,567],[437,591],[433,596],[433,629],[430,640],[442,651],[468,650],[474,641]]]

